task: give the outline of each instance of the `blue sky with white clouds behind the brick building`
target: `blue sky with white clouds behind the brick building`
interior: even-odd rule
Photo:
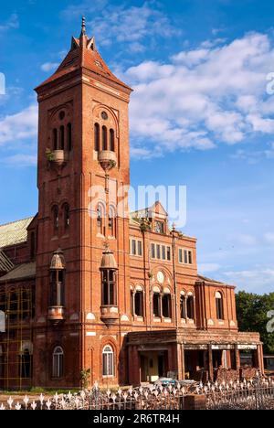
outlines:
[[[274,285],[274,4],[267,0],[13,1],[0,14],[0,222],[37,212],[33,88],[79,35],[134,88],[132,185],[186,185],[200,272]]]

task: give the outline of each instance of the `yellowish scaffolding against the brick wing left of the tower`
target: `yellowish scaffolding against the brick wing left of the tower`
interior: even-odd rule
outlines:
[[[0,285],[0,311],[5,331],[0,332],[0,390],[21,391],[31,386],[33,289],[30,284]]]

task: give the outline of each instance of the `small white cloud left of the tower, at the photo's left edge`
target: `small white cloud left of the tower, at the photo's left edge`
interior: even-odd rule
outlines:
[[[36,137],[37,120],[36,105],[30,105],[22,112],[0,119],[0,146]]]

